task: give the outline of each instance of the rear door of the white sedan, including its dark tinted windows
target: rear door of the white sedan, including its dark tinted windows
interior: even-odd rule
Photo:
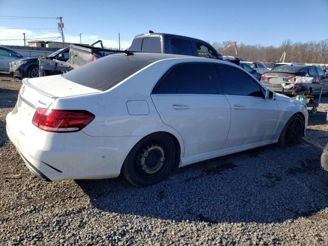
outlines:
[[[151,97],[161,120],[181,135],[185,156],[223,147],[231,109],[216,86],[210,63],[185,63],[171,68],[158,81]]]

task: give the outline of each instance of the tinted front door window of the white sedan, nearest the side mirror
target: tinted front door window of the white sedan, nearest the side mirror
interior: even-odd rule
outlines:
[[[220,83],[224,94],[264,97],[260,85],[242,70],[232,66],[215,66],[219,70]]]

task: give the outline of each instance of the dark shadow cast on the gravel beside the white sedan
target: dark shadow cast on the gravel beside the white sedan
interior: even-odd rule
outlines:
[[[274,144],[196,163],[147,188],[121,177],[76,183],[103,212],[210,224],[282,222],[328,207],[321,152],[305,139],[292,148]]]

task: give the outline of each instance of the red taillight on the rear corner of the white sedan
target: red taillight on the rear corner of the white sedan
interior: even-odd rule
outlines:
[[[86,110],[37,108],[32,123],[47,132],[77,132],[85,128],[94,117]]]

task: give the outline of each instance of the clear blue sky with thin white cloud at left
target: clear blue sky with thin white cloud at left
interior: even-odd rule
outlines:
[[[121,48],[128,48],[135,35],[148,30],[197,37],[210,43],[235,40],[237,44],[264,46],[278,46],[286,39],[307,42],[328,38],[328,0],[0,0],[0,15],[63,16],[68,42],[79,42],[82,33],[83,43],[103,39],[107,46],[115,47],[120,32]],[[56,23],[56,19],[0,18],[0,39],[23,38],[22,32],[27,38],[57,37]],[[0,44],[23,43],[17,40]]]

